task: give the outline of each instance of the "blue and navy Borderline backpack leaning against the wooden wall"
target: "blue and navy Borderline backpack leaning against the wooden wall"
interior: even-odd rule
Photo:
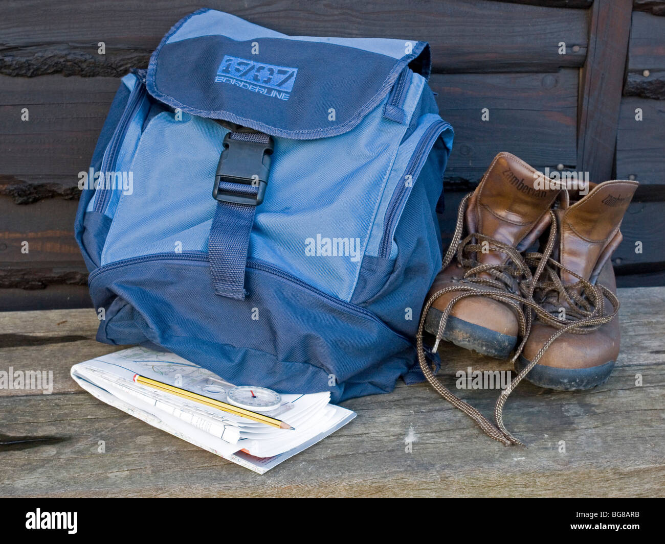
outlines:
[[[79,174],[97,339],[333,402],[422,379],[453,139],[429,72],[424,42],[182,19]]]

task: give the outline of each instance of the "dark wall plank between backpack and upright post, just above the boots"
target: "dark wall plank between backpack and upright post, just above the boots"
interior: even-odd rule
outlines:
[[[440,113],[455,129],[446,181],[477,181],[499,151],[539,168],[574,168],[577,81],[577,70],[433,75]]]

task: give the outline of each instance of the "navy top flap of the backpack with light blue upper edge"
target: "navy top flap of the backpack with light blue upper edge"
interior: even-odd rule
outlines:
[[[428,77],[427,43],[290,37],[201,9],[164,37],[146,86],[161,102],[196,116],[314,139],[352,130],[406,66]]]

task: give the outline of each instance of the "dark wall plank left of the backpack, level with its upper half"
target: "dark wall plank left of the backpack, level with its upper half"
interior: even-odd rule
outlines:
[[[90,165],[119,84],[116,78],[0,76],[0,146],[6,151],[0,155],[0,192],[23,203],[31,193],[21,193],[27,191],[21,181],[32,181],[34,191],[49,183],[76,187],[78,172]],[[27,121],[21,120],[23,108],[28,109]],[[59,190],[65,191],[52,189]]]

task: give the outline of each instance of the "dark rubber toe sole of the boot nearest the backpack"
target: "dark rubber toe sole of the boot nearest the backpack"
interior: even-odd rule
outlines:
[[[440,310],[430,308],[425,317],[425,330],[436,335],[441,321]],[[508,359],[517,344],[517,336],[499,333],[459,317],[449,316],[442,339],[455,345],[489,355],[497,359]]]

